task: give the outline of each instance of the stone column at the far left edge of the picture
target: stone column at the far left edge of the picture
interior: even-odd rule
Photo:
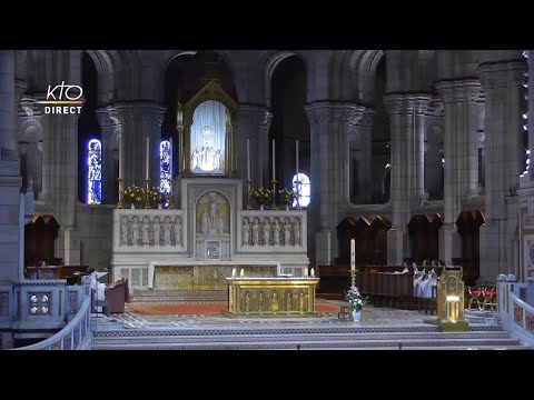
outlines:
[[[0,281],[18,280],[20,164],[14,131],[14,53],[0,50]]]

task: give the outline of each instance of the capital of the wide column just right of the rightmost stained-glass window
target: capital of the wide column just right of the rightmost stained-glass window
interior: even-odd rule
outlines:
[[[330,101],[317,101],[304,108],[312,124],[343,122],[355,126],[365,111],[364,106]]]

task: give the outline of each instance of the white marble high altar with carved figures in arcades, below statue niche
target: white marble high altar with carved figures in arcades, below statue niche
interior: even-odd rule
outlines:
[[[243,210],[243,181],[195,177],[180,180],[178,209],[113,210],[113,280],[154,288],[157,267],[271,267],[304,277],[307,218],[304,210]]]

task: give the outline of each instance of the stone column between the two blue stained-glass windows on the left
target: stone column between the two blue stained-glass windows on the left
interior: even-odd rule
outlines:
[[[159,187],[159,146],[165,108],[156,103],[136,102],[116,104],[120,121],[120,169],[123,186],[145,187],[147,137],[149,140],[150,187]]]

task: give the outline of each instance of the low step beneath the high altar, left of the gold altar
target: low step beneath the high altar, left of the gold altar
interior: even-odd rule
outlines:
[[[131,302],[142,303],[188,303],[226,302],[228,290],[136,290]]]

